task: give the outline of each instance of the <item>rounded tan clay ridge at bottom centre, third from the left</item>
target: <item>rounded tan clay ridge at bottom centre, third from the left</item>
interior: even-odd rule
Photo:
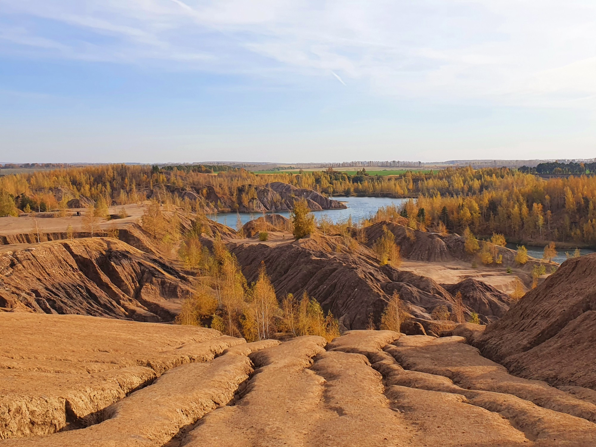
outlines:
[[[250,353],[254,371],[243,398],[202,418],[183,439],[188,447],[303,446],[316,418],[322,383],[308,367],[325,339],[298,337]]]

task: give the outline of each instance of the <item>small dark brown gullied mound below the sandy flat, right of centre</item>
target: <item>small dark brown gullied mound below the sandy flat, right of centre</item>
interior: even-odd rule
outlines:
[[[464,305],[482,315],[484,323],[501,318],[514,303],[507,293],[473,278],[468,278],[457,284],[443,284],[443,287],[452,296],[455,296],[458,292],[461,293]]]

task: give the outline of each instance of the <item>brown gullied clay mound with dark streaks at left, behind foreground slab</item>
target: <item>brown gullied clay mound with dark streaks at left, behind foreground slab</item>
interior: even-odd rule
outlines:
[[[56,241],[0,255],[0,307],[172,321],[191,293],[184,274],[108,238]]]

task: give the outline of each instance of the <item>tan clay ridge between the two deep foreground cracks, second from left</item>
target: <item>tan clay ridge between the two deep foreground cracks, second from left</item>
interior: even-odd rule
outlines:
[[[246,351],[273,343],[244,344],[212,361],[184,364],[166,371],[151,386],[105,408],[104,421],[51,436],[12,439],[7,446],[146,446],[175,445],[175,438],[198,419],[224,406],[253,368]],[[252,345],[252,346],[249,346]]]

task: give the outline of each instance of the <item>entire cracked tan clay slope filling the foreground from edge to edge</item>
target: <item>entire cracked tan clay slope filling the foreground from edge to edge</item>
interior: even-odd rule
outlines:
[[[0,315],[3,337],[9,335],[4,327],[13,325],[15,337],[39,342],[42,334],[26,325],[47,331],[46,318],[54,325],[50,342],[56,347],[35,359],[43,346],[28,351],[24,347],[32,344],[9,335],[1,374],[7,377],[10,361],[16,368],[10,374],[35,382],[8,390],[11,398],[0,406],[0,434],[10,439],[2,445],[587,447],[596,442],[593,402],[513,377],[462,337],[349,331],[328,344],[316,336],[244,343],[204,328],[84,316],[17,315],[10,322],[15,315],[5,315]],[[70,329],[63,333],[58,322]],[[111,333],[101,338],[104,324]],[[83,334],[85,325],[97,335]],[[80,343],[69,345],[76,335]],[[7,401],[17,401],[17,391],[20,402],[30,405],[75,390],[94,396],[98,383],[89,380],[83,387],[65,379],[92,377],[95,368],[107,374],[105,383],[125,383],[117,374],[133,365],[154,380],[95,405],[94,417],[44,436],[7,430],[15,415],[24,414],[5,410]],[[0,395],[7,394],[7,383],[0,380]]]

